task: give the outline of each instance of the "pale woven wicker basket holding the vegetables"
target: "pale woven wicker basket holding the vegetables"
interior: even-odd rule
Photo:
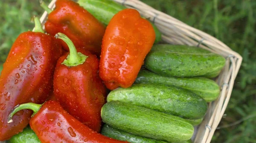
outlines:
[[[56,0],[52,0],[49,4],[49,8],[55,7],[55,1]],[[216,79],[216,82],[221,87],[219,98],[216,101],[209,103],[207,115],[205,116],[204,121],[196,127],[195,134],[192,137],[194,143],[210,143],[230,99],[233,84],[242,62],[242,57],[209,34],[192,28],[161,11],[157,11],[139,0],[115,1],[128,8],[137,9],[143,17],[147,17],[154,22],[162,33],[163,41],[175,45],[198,46],[226,57],[226,65]],[[44,23],[47,20],[46,11],[40,20],[41,23]]]

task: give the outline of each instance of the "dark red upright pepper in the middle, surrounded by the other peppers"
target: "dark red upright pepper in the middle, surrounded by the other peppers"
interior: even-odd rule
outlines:
[[[76,49],[71,41],[68,45]],[[58,59],[54,73],[54,95],[70,115],[99,132],[102,125],[100,112],[106,102],[107,89],[99,78],[97,57],[83,49],[78,51],[86,56],[84,61],[75,62],[78,65],[64,63],[65,59],[70,60],[71,54],[77,52],[67,53]]]

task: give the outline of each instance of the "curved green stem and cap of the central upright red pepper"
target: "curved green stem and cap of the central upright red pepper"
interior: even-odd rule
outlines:
[[[62,62],[62,64],[66,65],[67,67],[71,67],[71,66],[77,66],[79,64],[83,64],[86,61],[88,56],[80,52],[77,53],[74,43],[65,34],[57,33],[55,35],[55,38],[62,39],[65,43],[67,43],[67,46],[70,50],[70,54],[67,56],[67,59],[65,59]]]

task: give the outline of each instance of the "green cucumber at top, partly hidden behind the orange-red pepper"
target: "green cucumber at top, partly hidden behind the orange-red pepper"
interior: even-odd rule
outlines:
[[[115,14],[126,8],[113,0],[79,0],[78,3],[104,25],[108,25]],[[161,32],[156,25],[150,23],[156,34],[154,43],[157,44],[161,41]]]

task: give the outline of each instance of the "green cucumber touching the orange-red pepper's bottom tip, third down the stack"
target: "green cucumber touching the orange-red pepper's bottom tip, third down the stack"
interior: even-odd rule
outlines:
[[[135,104],[186,119],[203,118],[207,111],[207,102],[200,96],[163,84],[133,84],[129,88],[118,88],[108,94],[107,101]]]

